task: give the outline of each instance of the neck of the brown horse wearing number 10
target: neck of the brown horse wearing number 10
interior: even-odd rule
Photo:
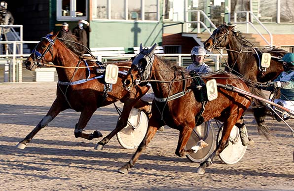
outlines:
[[[54,60],[53,64],[56,66],[63,67],[77,67],[80,58],[74,54],[65,44],[63,44],[60,40],[55,41],[54,47]],[[79,66],[85,66],[82,63]],[[71,68],[56,68],[56,72],[58,74],[58,79],[60,81],[75,81],[82,78],[85,78],[85,69],[71,69]]]

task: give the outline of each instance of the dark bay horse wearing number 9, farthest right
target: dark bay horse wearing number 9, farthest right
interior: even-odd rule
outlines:
[[[222,24],[204,42],[204,47],[209,51],[220,48],[227,51],[228,61],[225,71],[244,76],[250,79],[252,84],[273,80],[283,72],[283,65],[279,60],[284,54],[288,53],[287,51],[283,49],[260,50],[243,38],[240,32],[235,32],[234,27]],[[266,69],[260,65],[263,52],[271,54],[270,67]],[[251,93],[267,99],[264,93],[257,89],[255,85],[250,85],[249,88]],[[258,124],[258,131],[268,136],[268,126],[264,122],[266,115],[265,104],[257,99],[253,99],[252,109]]]

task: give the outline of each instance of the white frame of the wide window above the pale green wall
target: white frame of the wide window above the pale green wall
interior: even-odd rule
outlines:
[[[92,6],[92,20],[93,21],[105,21],[105,22],[146,22],[146,23],[158,23],[160,20],[160,0],[156,0],[157,3],[157,16],[156,20],[145,20],[145,2],[148,0],[141,0],[141,18],[142,20],[132,20],[128,18],[128,0],[124,0],[124,5],[125,5],[125,18],[126,19],[111,19],[111,0],[108,0],[107,3],[107,19],[98,19],[95,18],[96,12],[94,12],[95,6]],[[95,2],[92,2],[95,4]]]

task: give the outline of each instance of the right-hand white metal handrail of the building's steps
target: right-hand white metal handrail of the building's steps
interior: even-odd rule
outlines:
[[[237,22],[237,13],[246,13],[246,21],[245,22]],[[256,19],[257,23],[261,25],[261,27],[268,33],[270,42],[267,41],[266,38],[263,37],[263,35],[257,30],[257,28],[253,25],[252,22],[249,21],[249,14]],[[273,36],[272,34],[267,30],[267,28],[259,21],[257,16],[253,14],[252,11],[236,11],[234,12],[234,23],[241,23],[246,24],[246,33],[249,33],[249,24],[253,27],[253,29],[258,33],[258,35],[272,48],[273,47]]]

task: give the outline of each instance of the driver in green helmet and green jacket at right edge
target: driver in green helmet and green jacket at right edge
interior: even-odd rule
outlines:
[[[263,86],[261,89],[273,91],[280,89],[281,100],[294,101],[294,53],[287,53],[283,56],[284,71],[269,86]]]

